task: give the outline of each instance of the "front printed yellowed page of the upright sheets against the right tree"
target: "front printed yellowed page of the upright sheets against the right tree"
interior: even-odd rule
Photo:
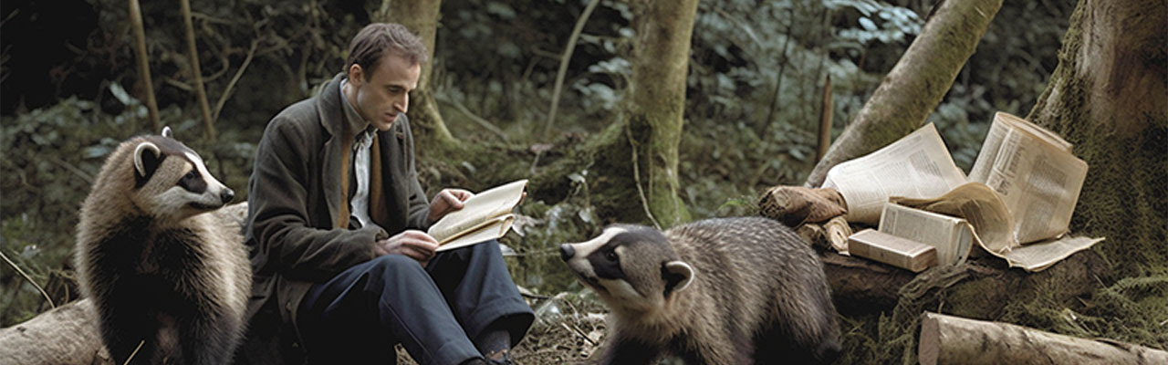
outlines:
[[[1087,164],[1066,150],[1011,129],[986,177],[1014,220],[1014,237],[1028,243],[1066,233]]]

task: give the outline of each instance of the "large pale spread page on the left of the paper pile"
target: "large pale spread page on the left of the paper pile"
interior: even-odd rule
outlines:
[[[965,173],[929,123],[883,149],[835,165],[822,187],[840,191],[849,222],[875,226],[889,197],[934,198],[965,182]]]

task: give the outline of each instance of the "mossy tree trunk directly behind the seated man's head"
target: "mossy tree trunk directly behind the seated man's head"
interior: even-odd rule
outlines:
[[[438,18],[442,0],[382,0],[381,7],[370,14],[376,22],[396,22],[405,26],[422,37],[430,53],[430,62],[422,66],[418,88],[410,92],[410,126],[419,145],[427,149],[436,146],[453,146],[454,137],[446,129],[438,103],[434,102],[430,76],[434,66],[434,37],[438,33]],[[439,147],[440,149],[440,147]]]

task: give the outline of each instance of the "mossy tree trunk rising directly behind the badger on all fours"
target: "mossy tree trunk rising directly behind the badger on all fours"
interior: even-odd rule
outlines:
[[[632,78],[620,118],[592,146],[600,216],[661,228],[689,220],[677,197],[689,67],[697,0],[633,1],[637,36]]]

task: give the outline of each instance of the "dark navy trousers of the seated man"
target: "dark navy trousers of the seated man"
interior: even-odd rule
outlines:
[[[514,345],[534,318],[492,240],[425,268],[403,255],[354,266],[308,290],[297,325],[312,363],[392,364],[401,343],[419,364],[459,364],[481,356],[472,338],[507,330]]]

